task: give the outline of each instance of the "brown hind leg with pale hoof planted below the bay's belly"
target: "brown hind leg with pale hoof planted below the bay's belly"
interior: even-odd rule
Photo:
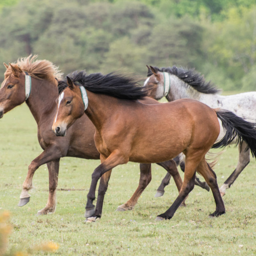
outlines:
[[[125,204],[118,206],[117,210],[127,211],[134,209],[135,204],[137,204],[140,195],[150,183],[151,178],[151,164],[140,164],[140,181],[138,188]]]

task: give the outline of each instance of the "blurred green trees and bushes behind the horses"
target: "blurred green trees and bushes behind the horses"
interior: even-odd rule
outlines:
[[[0,0],[0,62],[30,53],[74,70],[146,76],[196,68],[224,90],[255,90],[255,0]],[[3,78],[4,66],[0,67]]]

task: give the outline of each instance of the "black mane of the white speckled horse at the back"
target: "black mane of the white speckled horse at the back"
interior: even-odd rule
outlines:
[[[177,76],[182,81],[192,86],[198,92],[205,94],[217,94],[221,92],[221,90],[216,88],[212,82],[206,82],[204,80],[204,76],[196,72],[194,69],[185,69],[182,67],[178,68],[176,66],[172,66],[171,68],[154,67],[154,69],[159,72],[167,72],[171,75]],[[148,76],[151,76],[152,74],[152,71],[148,70]]]

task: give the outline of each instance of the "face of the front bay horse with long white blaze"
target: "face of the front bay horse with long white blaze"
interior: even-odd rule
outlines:
[[[66,87],[56,99],[57,112],[52,125],[56,136],[65,136],[67,129],[84,114],[84,104],[78,86]]]

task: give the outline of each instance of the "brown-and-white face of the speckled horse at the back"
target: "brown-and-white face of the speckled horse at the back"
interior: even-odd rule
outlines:
[[[152,74],[144,82],[144,87],[148,90],[148,97],[160,100],[164,96],[164,82],[160,72]]]

